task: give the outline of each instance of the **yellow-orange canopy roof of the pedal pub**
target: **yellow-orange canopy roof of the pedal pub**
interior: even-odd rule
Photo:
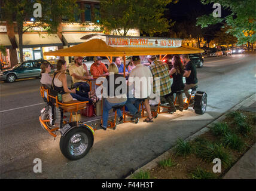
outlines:
[[[74,47],[44,53],[44,56],[142,56],[159,54],[203,53],[200,48],[182,46],[178,48],[127,48],[110,47],[102,39],[92,39]]]

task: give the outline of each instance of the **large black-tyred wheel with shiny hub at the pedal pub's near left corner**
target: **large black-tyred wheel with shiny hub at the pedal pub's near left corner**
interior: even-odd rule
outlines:
[[[83,127],[75,127],[60,137],[60,150],[70,159],[81,159],[89,152],[93,144],[93,135]]]

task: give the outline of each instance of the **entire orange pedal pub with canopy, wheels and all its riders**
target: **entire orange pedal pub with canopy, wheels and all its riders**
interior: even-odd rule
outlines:
[[[53,137],[57,136],[56,132],[60,132],[60,150],[66,158],[77,160],[86,156],[93,145],[96,130],[106,130],[107,128],[115,130],[117,124],[121,122],[137,123],[141,116],[144,118],[145,111],[147,112],[147,116],[145,116],[144,122],[153,122],[153,118],[156,118],[158,113],[164,112],[160,110],[161,107],[167,108],[171,113],[175,112],[177,97],[180,111],[187,109],[190,100],[193,100],[192,102],[194,103],[192,106],[194,111],[201,115],[205,113],[207,94],[203,91],[196,91],[196,70],[194,70],[190,60],[185,55],[189,53],[202,53],[203,50],[199,48],[183,47],[179,39],[158,38],[148,38],[148,41],[159,41],[158,45],[160,47],[157,47],[158,45],[150,47],[151,43],[145,44],[146,47],[136,47],[136,45],[132,45],[132,47],[122,45],[118,47],[116,44],[111,45],[112,42],[118,42],[114,41],[113,38],[118,39],[124,37],[102,36],[105,37],[105,41],[102,39],[91,39],[80,44],[79,48],[77,48],[78,45],[75,45],[74,47],[65,48],[63,50],[44,53],[45,56],[72,56],[73,54],[81,54],[83,56],[94,56],[95,60],[95,63],[93,63],[90,68],[93,78],[90,76],[87,67],[81,64],[81,57],[75,57],[75,64],[69,67],[69,73],[74,82],[74,87],[81,91],[75,88],[68,88],[65,75],[66,61],[57,61],[57,71],[54,72],[52,79],[48,75],[50,70],[47,64],[42,64],[41,66],[42,86],[40,93],[46,106],[41,110],[39,122],[42,128],[53,135]],[[130,36],[129,38],[145,39],[146,37]],[[176,47],[173,49],[167,46],[168,43],[161,43],[161,41],[173,42],[170,44]],[[101,47],[100,50],[98,47]],[[149,56],[148,61],[150,61],[150,65],[144,66],[141,64],[141,58],[138,56],[141,53],[144,53],[144,57],[145,55],[159,53],[160,57],[159,60],[157,60],[156,57]],[[169,72],[166,64],[161,61],[161,55],[177,53],[184,54],[181,56],[181,60],[182,63],[184,63],[185,70],[182,70],[179,57],[173,57],[173,68]],[[108,69],[106,69],[105,64],[101,63],[100,56],[108,58],[109,63],[111,63]],[[132,64],[129,70],[123,65],[126,63],[126,56],[132,56],[130,60]],[[120,63],[120,57],[123,57],[123,64]],[[114,63],[112,63],[112,58],[114,58]],[[123,71],[119,70],[120,68],[123,69]],[[120,75],[118,73],[122,74]],[[173,79],[170,79],[169,74],[172,75]],[[183,87],[181,82],[182,75],[186,78],[184,93],[187,98],[185,100],[180,96],[182,95]],[[127,76],[129,76],[129,78],[126,80]],[[97,84],[99,77],[105,78],[103,85]],[[111,79],[117,81],[118,78],[120,78],[119,82],[123,82],[117,84],[114,82],[114,84],[112,84]],[[146,81],[141,81],[141,78],[144,78]],[[157,81],[157,78],[160,78],[160,81]],[[139,81],[136,81],[136,79],[139,79]],[[173,82],[171,83],[172,80]],[[114,91],[111,89],[111,85],[113,85]],[[106,94],[100,89],[102,86],[108,90]],[[124,89],[127,91],[120,91],[120,86],[124,86]],[[156,112],[153,112],[153,110],[151,110],[151,101],[156,100],[155,97],[157,97],[157,93],[160,99],[156,103]],[[66,94],[70,94],[72,97],[71,101],[64,101],[63,98]],[[175,99],[173,97],[174,94],[176,94]],[[168,103],[166,107],[161,103],[161,101],[164,100]],[[101,112],[99,108],[96,109],[99,110],[100,113],[98,116],[88,118],[79,115],[81,110],[87,108],[88,103],[96,104],[98,101],[101,103]],[[99,106],[100,104],[96,105]],[[57,120],[59,118],[56,112],[54,112],[56,108],[60,110],[59,122]],[[114,112],[109,112],[111,109],[113,109]],[[127,117],[130,117],[129,120],[127,120]]]

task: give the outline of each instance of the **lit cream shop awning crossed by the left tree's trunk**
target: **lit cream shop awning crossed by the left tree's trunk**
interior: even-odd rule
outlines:
[[[62,46],[62,41],[58,35],[48,34],[23,34],[23,48],[36,47],[56,47]],[[15,35],[17,45],[19,46],[19,35]]]

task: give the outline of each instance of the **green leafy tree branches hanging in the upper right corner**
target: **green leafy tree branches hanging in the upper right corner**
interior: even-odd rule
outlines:
[[[202,4],[215,3],[215,0],[201,0]],[[197,25],[202,28],[211,24],[223,23],[230,28],[227,33],[237,38],[237,45],[246,42],[254,43],[256,41],[256,2],[255,0],[219,0],[221,8],[230,11],[226,17],[213,17],[212,14],[197,18]],[[246,36],[246,34],[248,34]]]

